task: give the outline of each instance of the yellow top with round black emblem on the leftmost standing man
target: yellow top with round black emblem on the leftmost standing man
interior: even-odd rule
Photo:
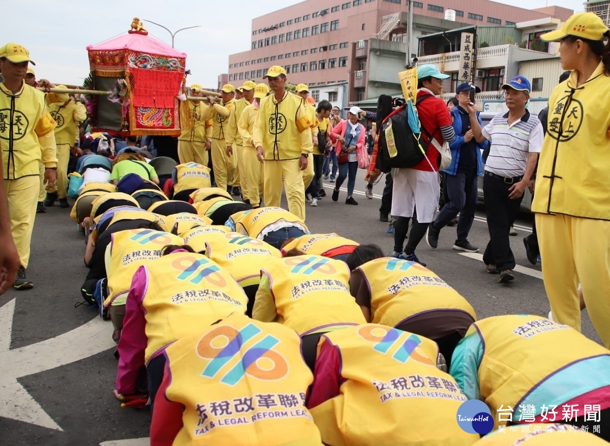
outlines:
[[[13,95],[4,87],[4,83],[0,83],[0,110],[3,178],[14,180],[38,175],[42,160],[38,138],[52,132],[56,126],[47,112],[45,94],[24,83],[21,90]]]

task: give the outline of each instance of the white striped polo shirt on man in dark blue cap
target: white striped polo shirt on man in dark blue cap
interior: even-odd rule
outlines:
[[[508,112],[493,116],[481,129],[483,136],[491,141],[485,170],[503,177],[520,177],[525,174],[529,152],[540,153],[544,134],[542,124],[536,116],[525,110],[519,121],[508,124]]]

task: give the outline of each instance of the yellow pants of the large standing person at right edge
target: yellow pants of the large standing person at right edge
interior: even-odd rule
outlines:
[[[536,214],[536,228],[553,319],[580,331],[580,281],[591,322],[610,348],[610,221]]]

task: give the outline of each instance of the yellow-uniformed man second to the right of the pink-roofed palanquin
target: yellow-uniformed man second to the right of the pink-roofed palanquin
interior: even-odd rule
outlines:
[[[237,159],[229,158],[224,142],[229,116],[235,106],[235,87],[227,83],[221,90],[223,103],[216,104],[216,99],[209,96],[209,105],[204,107],[203,119],[213,119],[212,124],[212,166],[216,185],[226,189],[237,168]]]

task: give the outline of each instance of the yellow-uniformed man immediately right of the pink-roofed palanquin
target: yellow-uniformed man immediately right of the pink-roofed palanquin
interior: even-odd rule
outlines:
[[[190,95],[201,97],[201,85],[193,83]],[[182,93],[186,87],[182,85]],[[178,138],[178,158],[180,163],[198,163],[207,166],[207,136],[212,136],[212,127],[203,119],[204,104],[201,101],[182,101],[180,104],[180,136]],[[209,135],[208,135],[209,133]]]

